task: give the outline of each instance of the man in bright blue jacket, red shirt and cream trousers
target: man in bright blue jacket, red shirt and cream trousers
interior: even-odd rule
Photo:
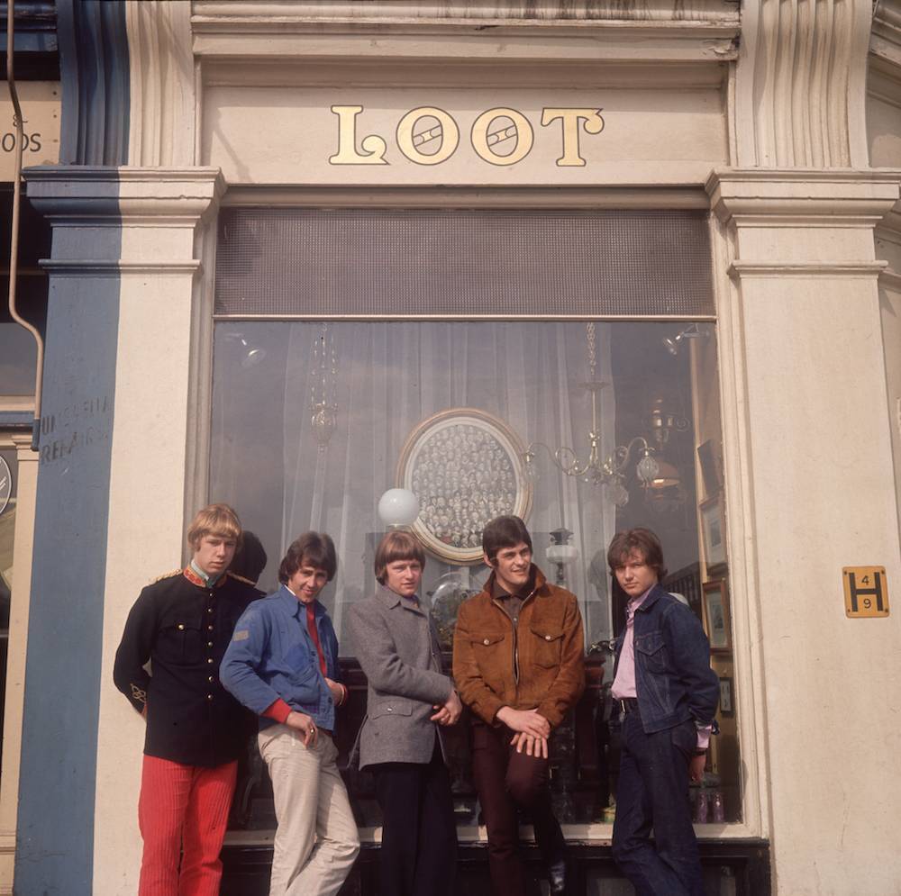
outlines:
[[[338,567],[332,539],[305,532],[281,562],[281,588],[238,620],[220,676],[259,716],[259,753],[272,779],[276,830],[269,896],[332,896],[359,852],[335,760],[338,638],[316,600]]]

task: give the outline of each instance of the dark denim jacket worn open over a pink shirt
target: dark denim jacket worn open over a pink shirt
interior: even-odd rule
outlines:
[[[648,734],[675,728],[689,719],[698,726],[714,720],[720,683],[710,668],[710,645],[696,615],[660,585],[635,611],[635,691]],[[616,638],[619,665],[625,631]]]

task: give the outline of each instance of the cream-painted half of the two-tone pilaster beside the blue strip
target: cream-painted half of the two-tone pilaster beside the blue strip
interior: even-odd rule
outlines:
[[[188,445],[197,388],[196,303],[204,285],[195,258],[198,225],[218,202],[214,169],[120,171],[123,270],[110,519],[104,665],[97,756],[94,891],[137,890],[137,826],[144,722],[113,684],[125,618],[155,575],[181,565],[189,493]],[[205,317],[210,314],[205,307]]]

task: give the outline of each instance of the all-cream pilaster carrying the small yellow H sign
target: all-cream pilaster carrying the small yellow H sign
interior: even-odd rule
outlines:
[[[889,891],[898,864],[872,832],[901,801],[901,726],[886,712],[901,624],[847,619],[842,566],[901,583],[873,239],[896,176],[733,169],[707,190],[731,256],[718,309],[724,382],[738,384],[724,425],[742,430],[730,538],[760,638],[753,737],[778,891],[814,896],[817,872],[829,891]]]

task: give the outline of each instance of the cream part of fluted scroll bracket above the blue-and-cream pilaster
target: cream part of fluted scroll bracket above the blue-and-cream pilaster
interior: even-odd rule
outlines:
[[[191,5],[127,0],[131,165],[193,165],[196,98]]]

